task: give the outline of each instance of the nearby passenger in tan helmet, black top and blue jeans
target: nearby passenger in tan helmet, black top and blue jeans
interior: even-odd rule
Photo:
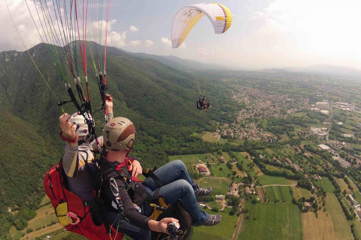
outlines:
[[[109,149],[106,159],[114,164],[119,172],[137,177],[142,173],[140,162],[136,158],[128,156],[133,148],[135,139],[134,124],[127,118],[113,118],[105,124],[103,130],[104,143]],[[130,158],[132,161],[130,161]],[[131,196],[127,192],[132,180],[124,180],[117,175],[113,168],[103,163],[104,184],[103,196],[106,205],[106,216],[108,222],[118,232],[129,235],[133,239],[150,240],[149,230],[165,232],[168,223],[178,222],[174,218],[164,218],[155,221],[148,216],[153,209],[149,203],[143,200],[135,192]],[[164,183],[160,187],[152,178],[147,178],[143,184],[137,184],[139,188],[147,191],[151,196],[160,187],[159,195],[167,203],[175,203],[180,199],[182,206],[192,217],[193,226],[213,226],[221,222],[221,215],[210,215],[203,212],[196,196],[206,196],[212,193],[210,187],[200,187],[190,177],[186,166],[181,160],[170,162],[157,169],[154,174]]]

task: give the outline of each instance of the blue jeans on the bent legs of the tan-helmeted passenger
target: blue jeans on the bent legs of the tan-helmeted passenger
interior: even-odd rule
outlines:
[[[158,168],[154,174],[164,183],[159,190],[159,195],[166,203],[175,203],[181,200],[182,206],[192,216],[194,223],[203,223],[208,218],[208,213],[203,212],[197,202],[195,191],[197,186],[189,176],[186,166],[181,160],[174,160]],[[143,185],[151,195],[160,186],[150,177],[144,180]],[[153,209],[149,203],[143,204],[144,214],[150,216]]]

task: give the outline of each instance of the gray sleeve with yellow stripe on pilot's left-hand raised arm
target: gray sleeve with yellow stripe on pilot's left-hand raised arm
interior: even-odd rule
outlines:
[[[71,146],[69,142],[66,142],[62,161],[65,174],[68,177],[76,177],[79,170],[78,145]]]

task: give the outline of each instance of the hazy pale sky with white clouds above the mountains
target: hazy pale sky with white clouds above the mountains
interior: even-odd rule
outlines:
[[[6,0],[27,47],[41,39],[25,0]],[[27,0],[31,3],[31,0]],[[78,2],[80,2],[78,0]],[[108,45],[131,52],[175,55],[236,69],[306,67],[361,68],[361,1],[222,0],[232,26],[215,35],[206,17],[183,45],[171,47],[175,14],[194,0],[112,0]],[[34,5],[34,3],[31,3]],[[34,11],[34,8],[31,9]],[[0,51],[25,50],[0,1]]]

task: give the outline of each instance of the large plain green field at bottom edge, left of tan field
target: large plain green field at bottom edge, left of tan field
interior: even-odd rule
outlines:
[[[247,240],[297,240],[302,239],[301,213],[292,203],[247,202],[249,219],[243,219],[238,239]]]

